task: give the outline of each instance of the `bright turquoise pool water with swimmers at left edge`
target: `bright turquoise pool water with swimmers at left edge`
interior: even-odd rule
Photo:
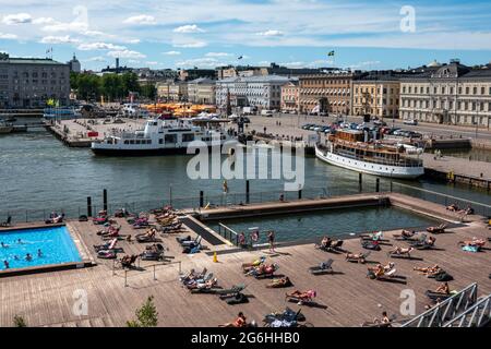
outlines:
[[[0,270],[5,269],[4,261],[11,269],[82,261],[67,227],[0,231],[0,242],[5,244],[0,246]],[[26,261],[27,253],[32,261]]]

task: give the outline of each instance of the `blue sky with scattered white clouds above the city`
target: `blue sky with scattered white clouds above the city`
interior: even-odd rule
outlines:
[[[0,51],[87,70],[474,65],[491,61],[491,1],[0,0]]]

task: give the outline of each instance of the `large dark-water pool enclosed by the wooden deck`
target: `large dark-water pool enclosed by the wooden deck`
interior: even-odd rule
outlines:
[[[312,240],[323,236],[346,238],[350,234],[378,230],[423,229],[438,221],[395,206],[336,208],[302,214],[288,214],[240,219],[223,219],[219,222],[247,237],[251,228],[259,228],[259,242],[266,242],[266,231],[274,230],[277,241]],[[218,221],[207,222],[218,229]],[[218,230],[216,230],[218,231]]]

